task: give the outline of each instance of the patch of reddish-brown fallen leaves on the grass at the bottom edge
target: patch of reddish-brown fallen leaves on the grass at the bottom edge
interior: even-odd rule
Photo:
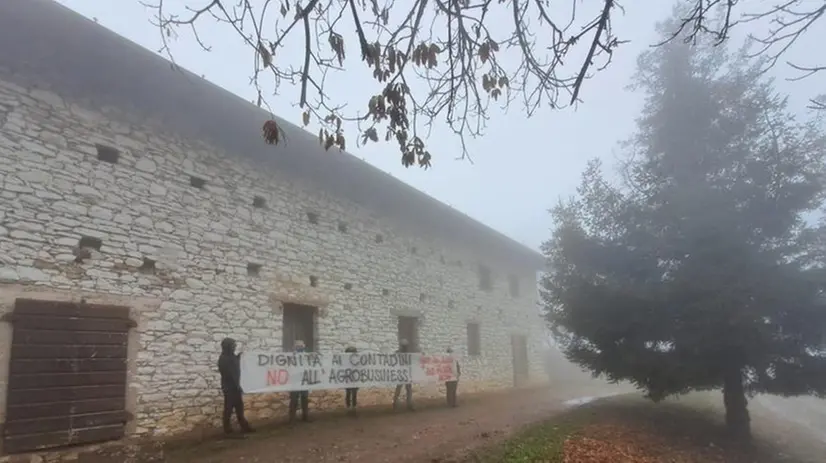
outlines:
[[[623,424],[587,426],[565,440],[563,463],[725,463],[723,452],[710,445],[698,449],[672,442],[655,430]]]

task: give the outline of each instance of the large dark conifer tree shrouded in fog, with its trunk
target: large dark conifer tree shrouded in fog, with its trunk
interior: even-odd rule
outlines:
[[[750,394],[826,393],[826,234],[802,219],[826,138],[740,56],[672,41],[640,57],[622,180],[594,161],[553,210],[542,298],[570,360],[653,400],[722,389],[747,437]]]

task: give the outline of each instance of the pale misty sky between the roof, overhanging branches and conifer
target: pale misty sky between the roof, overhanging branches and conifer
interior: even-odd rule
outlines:
[[[152,11],[138,0],[59,2],[150,50],[160,48],[158,29],[149,22]],[[206,0],[166,0],[166,3],[199,6]],[[587,7],[600,2],[581,3]],[[434,165],[428,171],[403,168],[397,148],[392,144],[356,148],[351,141],[348,151],[517,241],[538,247],[550,236],[552,223],[548,208],[559,198],[574,193],[588,159],[600,157],[612,164],[618,155],[617,142],[634,130],[642,98],[630,93],[626,86],[633,76],[637,55],[657,41],[655,23],[668,16],[671,4],[653,0],[625,3],[625,14],[617,12],[614,26],[620,38],[630,43],[620,47],[607,70],[586,82],[583,103],[576,109],[545,108],[531,119],[526,119],[519,106],[513,106],[507,113],[494,109],[486,135],[470,141],[474,164],[455,160],[461,153],[458,140],[439,128],[427,140],[428,148],[434,153]],[[823,56],[822,48],[815,44],[826,43],[826,20],[817,26],[791,50],[789,59],[805,59],[806,52],[812,50],[818,50],[815,54]],[[204,51],[190,35],[182,33],[172,49],[178,64],[252,100],[255,95],[249,85],[252,52],[227,26],[205,21],[199,26],[199,33],[212,50]],[[350,44],[351,54],[355,54],[354,49],[355,45]],[[294,53],[295,57],[287,57],[288,61],[302,56],[303,50],[296,49]],[[571,64],[578,66],[580,62]],[[784,80],[791,75],[786,67],[777,69],[774,75],[779,77],[778,88],[791,95],[792,108],[800,113],[807,98],[826,93],[826,76],[791,83]],[[367,79],[369,76],[358,70],[338,73],[328,80],[327,90],[339,96],[358,95],[358,91],[363,90],[364,96],[355,97],[353,104],[364,105],[368,92],[375,91],[375,85]],[[373,87],[367,87],[365,82]],[[298,101],[297,87],[284,87],[280,97],[270,97],[268,101],[280,116],[294,123],[300,121],[300,110],[294,106]],[[350,140],[355,140],[354,135]]]

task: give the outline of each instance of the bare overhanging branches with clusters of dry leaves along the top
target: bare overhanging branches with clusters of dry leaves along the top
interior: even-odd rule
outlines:
[[[458,136],[463,147],[460,158],[470,160],[466,140],[484,134],[492,103],[507,108],[519,100],[528,116],[541,106],[574,104],[587,79],[604,69],[623,43],[612,28],[612,14],[621,9],[617,0],[590,1],[599,8],[584,21],[577,21],[583,14],[578,0],[570,0],[571,16],[565,21],[556,18],[559,4],[551,0],[189,1],[200,6],[187,4],[173,12],[164,0],[144,3],[153,10],[153,23],[161,34],[159,51],[173,63],[170,42],[182,28],[210,51],[198,25],[213,21],[227,26],[253,57],[250,83],[259,106],[272,113],[264,91],[267,85],[275,95],[283,93],[285,83],[295,85],[302,122],[319,124],[319,140],[327,149],[346,148],[344,127],[351,123],[358,126],[357,143],[382,137],[392,140],[405,166],[424,168],[432,159],[424,139],[435,123]],[[737,0],[686,1],[688,14],[674,37],[694,40],[710,34],[722,43],[738,24]],[[807,0],[785,1],[742,16],[742,22],[772,18],[775,28],[770,34],[755,38],[765,46],[759,53],[772,56],[770,65],[826,8],[826,3],[803,9]],[[716,11],[723,12],[723,19],[711,21],[709,15]],[[295,62],[284,53],[293,36],[303,46],[301,59]],[[347,98],[331,95],[325,86],[330,72],[351,70],[345,50],[352,43],[357,44],[376,89],[366,112],[348,110]],[[582,62],[567,68],[567,59],[583,43]],[[801,72],[800,78],[823,69],[791,66]],[[263,130],[268,143],[283,138],[275,120],[267,121]]]

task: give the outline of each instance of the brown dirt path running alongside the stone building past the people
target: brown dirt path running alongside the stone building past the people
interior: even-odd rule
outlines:
[[[358,417],[260,430],[249,438],[216,440],[167,455],[169,463],[447,462],[501,440],[519,427],[564,409],[566,400],[627,389],[591,382],[557,384],[514,394],[460,396],[460,406],[419,404],[415,412],[365,410]],[[464,400],[463,400],[464,399]]]

